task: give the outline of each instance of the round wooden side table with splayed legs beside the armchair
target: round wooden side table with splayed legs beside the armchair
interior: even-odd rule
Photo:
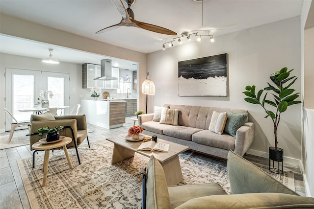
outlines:
[[[60,136],[61,138],[61,136]],[[57,148],[57,147],[63,147],[65,157],[67,158],[68,164],[71,169],[73,169],[73,165],[71,163],[71,159],[69,157],[69,153],[67,150],[67,144],[71,143],[72,138],[70,137],[62,137],[63,139],[59,142],[56,143],[41,143],[41,142],[36,142],[31,147],[35,150],[45,150],[45,156],[44,156],[44,163],[43,163],[43,168],[42,171],[44,172],[44,178],[43,178],[43,187],[46,186],[47,183],[47,173],[48,173],[48,163],[49,163],[49,153],[51,149]],[[46,139],[46,138],[44,138]]]

